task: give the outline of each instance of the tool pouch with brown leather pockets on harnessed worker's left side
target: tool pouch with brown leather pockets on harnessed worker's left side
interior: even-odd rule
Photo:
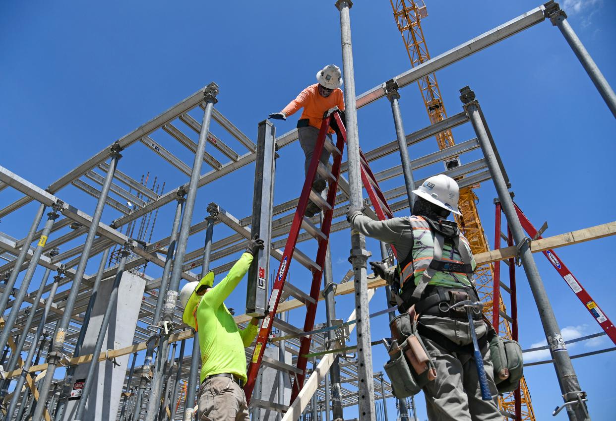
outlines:
[[[408,313],[390,323],[393,340],[389,345],[389,361],[383,366],[399,399],[419,393],[436,379],[436,367],[417,332],[418,323]]]

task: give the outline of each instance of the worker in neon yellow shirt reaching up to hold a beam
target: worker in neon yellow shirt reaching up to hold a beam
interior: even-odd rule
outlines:
[[[201,348],[201,386],[198,420],[249,421],[246,395],[246,355],[257,335],[258,320],[253,318],[245,329],[238,329],[224,300],[246,275],[253,257],[263,249],[263,240],[254,236],[246,252],[216,286],[214,272],[186,284],[180,291],[184,306],[182,320],[198,332]]]

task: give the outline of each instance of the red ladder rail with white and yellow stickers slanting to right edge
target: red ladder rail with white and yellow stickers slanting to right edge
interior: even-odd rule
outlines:
[[[534,236],[537,235],[537,228],[532,225],[530,220],[526,217],[526,215],[524,215],[524,212],[522,212],[515,202],[514,207],[516,209],[517,217],[522,224],[522,228],[524,228],[529,236],[534,238]],[[537,237],[537,239],[541,238],[541,236]],[[606,332],[612,342],[616,345],[616,329],[614,329],[614,324],[612,324],[612,321],[607,317],[606,313],[601,310],[596,301],[593,300],[593,297],[588,294],[588,291],[586,291],[580,281],[575,278],[573,273],[571,273],[569,268],[567,268],[567,265],[562,262],[562,260],[552,249],[543,251],[542,253],[545,255],[546,259],[552,263],[552,266],[556,269],[559,275],[562,276],[562,279],[564,279],[569,285],[573,293],[578,297],[578,299],[580,299],[584,307],[586,307],[586,310],[588,310],[588,313],[593,316],[599,326],[601,326],[601,329]]]

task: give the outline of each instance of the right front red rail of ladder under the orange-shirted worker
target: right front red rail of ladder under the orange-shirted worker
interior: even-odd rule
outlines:
[[[335,116],[339,116],[338,113],[334,114]],[[341,123],[339,123],[341,124]],[[337,133],[337,142],[336,147],[338,150],[342,151],[344,148],[344,143],[346,143],[346,135],[343,135],[341,132]],[[334,214],[334,204],[336,202],[336,193],[338,193],[338,180],[340,175],[340,168],[342,164],[342,154],[334,157],[334,163],[331,167],[331,173],[336,177],[336,181],[331,183],[330,188],[327,192],[327,202],[331,206],[331,210],[325,212],[323,215],[323,223],[321,224],[321,231],[325,234],[325,239],[320,241],[317,251],[317,264],[321,267],[320,271],[315,271],[312,277],[312,288],[310,289],[310,297],[315,300],[314,303],[309,303],[307,306],[306,313],[306,321],[304,322],[304,332],[312,331],[314,327],[314,320],[317,315],[317,303],[318,303],[318,295],[320,294],[321,280],[323,276],[323,263],[325,262],[325,254],[327,252],[327,245],[330,241],[330,230],[331,230],[331,220],[333,219]],[[299,347],[299,356],[297,361],[297,367],[302,371],[303,374],[298,375],[296,377],[296,381],[293,383],[293,391],[291,392],[291,402],[295,400],[295,398],[299,395],[299,391],[304,386],[304,380],[306,379],[306,366],[308,363],[308,359],[306,358],[307,353],[310,351],[310,342],[312,341],[312,335],[304,336],[300,339],[300,347]]]

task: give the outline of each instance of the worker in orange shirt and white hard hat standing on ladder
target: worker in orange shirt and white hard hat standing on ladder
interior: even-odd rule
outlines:
[[[338,106],[340,111],[344,111],[344,98],[342,97],[342,73],[336,65],[327,65],[317,72],[317,82],[310,85],[299,93],[298,97],[285,106],[280,113],[269,114],[269,118],[277,120],[286,120],[287,117],[293,115],[300,108],[304,108],[301,117],[298,120],[298,135],[299,145],[302,146],[306,161],[304,162],[304,172],[308,174],[310,161],[312,161],[312,153],[317,144],[318,132],[321,129],[323,114],[325,111]],[[331,134],[334,130],[328,130],[328,137],[331,140]],[[320,161],[327,166],[330,159],[330,153],[325,148],[321,153]],[[325,178],[316,175],[312,188],[321,193],[326,187]],[[312,201],[309,202],[306,209],[306,216],[312,217],[320,212],[320,208]]]

